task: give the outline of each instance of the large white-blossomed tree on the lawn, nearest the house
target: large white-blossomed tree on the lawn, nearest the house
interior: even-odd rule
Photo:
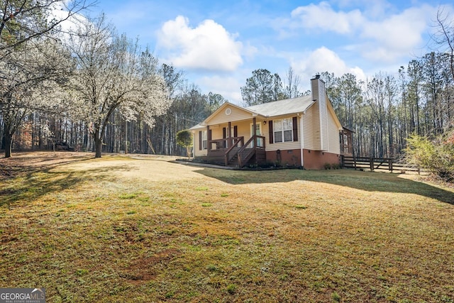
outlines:
[[[157,59],[137,41],[117,35],[104,15],[87,20],[70,35],[76,70],[68,89],[68,108],[90,126],[95,158],[101,149],[109,117],[120,109],[126,121],[140,114],[153,126],[154,117],[170,106],[165,82],[158,75]]]

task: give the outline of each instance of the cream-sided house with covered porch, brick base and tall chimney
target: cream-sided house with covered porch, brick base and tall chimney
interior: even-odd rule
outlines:
[[[312,94],[250,107],[226,102],[190,128],[194,158],[226,166],[277,163],[306,169],[338,165],[348,150],[345,131],[325,83],[311,79]],[[351,142],[351,139],[350,139]]]

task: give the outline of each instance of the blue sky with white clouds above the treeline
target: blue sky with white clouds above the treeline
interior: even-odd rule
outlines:
[[[201,92],[242,104],[240,87],[260,68],[284,82],[292,66],[301,91],[316,72],[396,74],[432,50],[440,7],[454,18],[450,1],[417,0],[98,0],[90,15],[106,13]]]

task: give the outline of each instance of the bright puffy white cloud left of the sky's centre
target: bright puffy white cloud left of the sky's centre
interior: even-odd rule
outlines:
[[[191,28],[187,18],[177,16],[164,23],[157,37],[158,48],[170,54],[165,60],[176,67],[233,71],[243,64],[243,44],[213,20]]]

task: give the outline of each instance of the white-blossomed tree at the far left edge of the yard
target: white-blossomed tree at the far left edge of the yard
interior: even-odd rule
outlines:
[[[21,44],[0,60],[0,116],[4,121],[5,158],[11,157],[13,135],[34,110],[57,110],[57,84],[67,81],[70,53],[57,40]]]

